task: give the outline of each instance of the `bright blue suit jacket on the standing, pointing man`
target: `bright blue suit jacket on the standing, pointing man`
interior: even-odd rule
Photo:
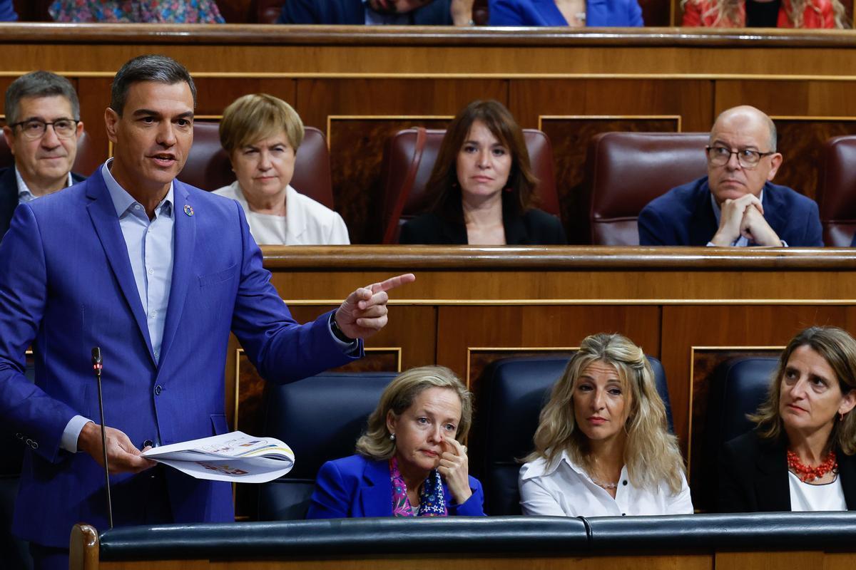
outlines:
[[[303,326],[291,318],[238,203],[178,180],[174,195],[174,267],[158,362],[100,168],[15,210],[0,244],[0,417],[30,447],[15,503],[21,538],[67,547],[74,523],[107,524],[103,470],[85,453],[60,449],[75,414],[98,421],[93,346],[104,356],[105,422],[138,447],[228,431],[229,331],[268,380],[288,382],[348,361],[330,334],[329,314]],[[35,385],[23,375],[31,343]],[[145,478],[111,477],[116,525],[141,522]],[[167,479],[176,522],[234,520],[228,483],[173,469]]]

